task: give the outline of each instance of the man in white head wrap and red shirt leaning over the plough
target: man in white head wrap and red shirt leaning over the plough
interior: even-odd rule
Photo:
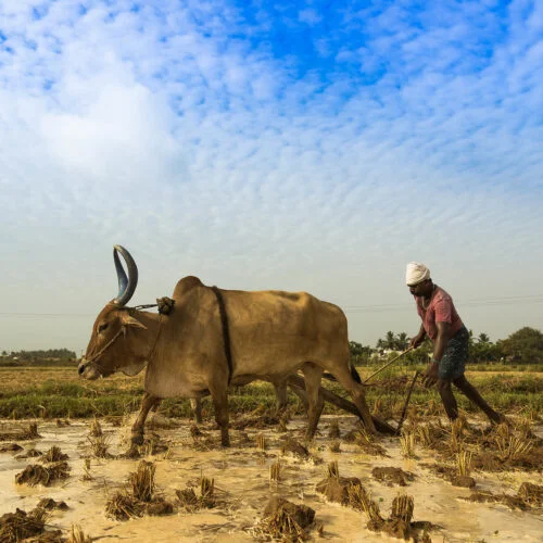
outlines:
[[[453,304],[453,299],[430,278],[430,270],[417,262],[407,264],[405,282],[415,298],[417,313],[422,324],[420,330],[409,343],[419,346],[428,336],[433,342],[433,356],[426,370],[424,382],[427,387],[438,383],[438,390],[449,418],[458,417],[458,405],[454,397],[454,383],[473,402],[492,422],[506,421],[468,382],[464,371],[468,358],[469,332],[464,326]]]

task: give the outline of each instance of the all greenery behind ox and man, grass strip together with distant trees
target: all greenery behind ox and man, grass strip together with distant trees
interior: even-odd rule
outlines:
[[[485,333],[477,338],[470,333],[470,380],[483,396],[496,408],[514,409],[529,416],[540,416],[543,407],[543,334],[525,327],[507,339],[492,343]],[[368,376],[388,359],[397,355],[408,344],[405,332],[387,332],[377,342],[377,349],[350,342],[351,361],[362,376]],[[430,342],[407,353],[397,363],[371,379],[367,389],[367,401],[382,416],[395,416],[403,406],[406,387],[415,370],[424,371],[431,353]],[[0,417],[100,417],[124,415],[139,407],[143,394],[143,375],[136,378],[123,375],[98,381],[81,381],[76,371],[74,352],[66,349],[49,351],[21,351],[0,356]],[[10,366],[16,366],[12,368]],[[66,367],[67,366],[67,367]],[[345,395],[337,383],[326,387]],[[472,406],[457,394],[462,408]],[[230,412],[235,416],[258,407],[275,406],[272,386],[255,382],[235,388],[230,393]],[[289,394],[291,409],[302,414],[296,396]],[[411,405],[427,408],[441,407],[441,400],[434,389],[420,384],[413,391]],[[204,399],[204,414],[213,415],[211,401]],[[190,416],[188,400],[166,400],[161,411],[168,416]],[[338,413],[327,404],[325,413]]]

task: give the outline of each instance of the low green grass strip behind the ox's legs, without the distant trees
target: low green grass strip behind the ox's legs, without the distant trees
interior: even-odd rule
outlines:
[[[400,361],[399,361],[400,362]],[[416,369],[425,365],[395,365],[379,374],[368,384],[367,402],[381,416],[395,417],[403,407],[409,381]],[[363,378],[377,366],[359,367]],[[539,417],[543,412],[543,374],[534,371],[533,365],[520,366],[512,371],[506,366],[489,366],[491,371],[468,372],[469,379],[482,395],[496,408],[529,417]],[[541,368],[539,368],[541,369]],[[496,371],[497,370],[497,371]],[[338,394],[346,396],[337,383],[324,384]],[[115,376],[88,382],[77,377],[75,368],[0,368],[0,417],[4,418],[65,418],[121,416],[139,408],[143,395],[143,376],[135,378]],[[473,407],[460,394],[459,406],[472,412]],[[232,417],[256,408],[272,408],[276,405],[270,384],[254,382],[235,387],[229,396]],[[289,393],[289,404],[295,414],[303,414],[296,396]],[[435,407],[435,414],[443,414],[441,400],[435,389],[417,384],[411,405],[419,409]],[[189,417],[188,400],[165,400],[160,408],[166,416]],[[204,417],[213,417],[209,397],[203,401]],[[327,404],[325,413],[344,413]]]

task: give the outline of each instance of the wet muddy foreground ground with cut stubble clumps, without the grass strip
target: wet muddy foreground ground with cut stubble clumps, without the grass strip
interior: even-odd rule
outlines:
[[[372,440],[327,415],[307,444],[302,416],[261,411],[233,419],[224,450],[214,424],[159,413],[132,459],[128,416],[3,420],[0,541],[25,519],[41,521],[34,541],[542,541],[541,428],[429,420]],[[270,496],[294,505],[266,509]]]

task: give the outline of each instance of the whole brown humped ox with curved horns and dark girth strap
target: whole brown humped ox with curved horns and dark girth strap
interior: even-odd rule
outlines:
[[[126,263],[127,273],[118,257]],[[121,245],[113,250],[119,290],[99,313],[79,376],[108,377],[146,370],[143,400],[131,429],[131,451],[143,441],[151,407],[164,397],[211,394],[220,442],[229,446],[228,387],[253,380],[285,382],[302,371],[307,397],[306,437],[312,439],[323,411],[324,371],[349,392],[363,422],[375,432],[364,386],[350,369],[348,323],[343,312],[306,292],[241,291],[180,279],[168,314],[128,307],[138,268]]]

